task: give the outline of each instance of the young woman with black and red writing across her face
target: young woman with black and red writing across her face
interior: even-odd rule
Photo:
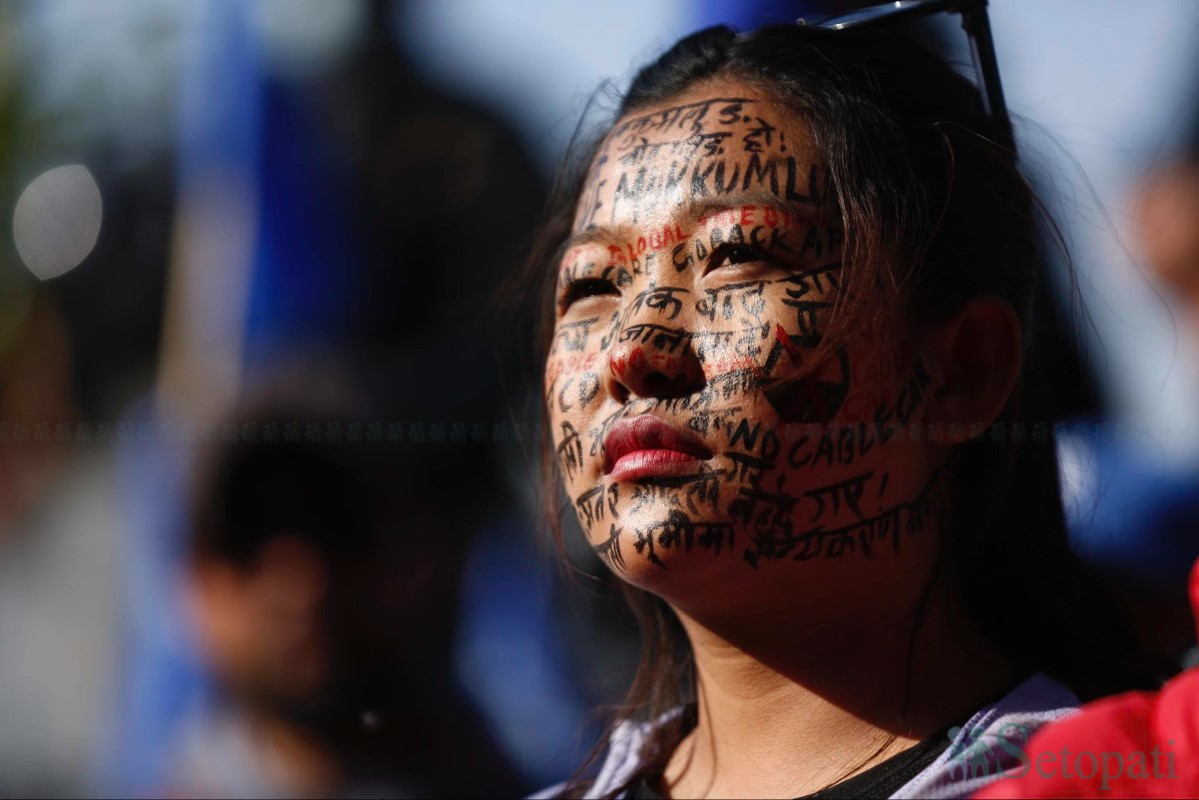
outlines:
[[[903,40],[689,36],[567,170],[558,480],[645,633],[589,796],[962,795],[1149,682],[1070,557],[1037,215]]]

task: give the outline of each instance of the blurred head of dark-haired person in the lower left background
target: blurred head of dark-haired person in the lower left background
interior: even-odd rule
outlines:
[[[318,425],[324,435],[332,421]],[[394,655],[402,591],[423,589],[405,567],[428,567],[388,552],[379,476],[353,449],[235,444],[195,530],[197,619],[216,673],[249,705],[317,727],[369,709],[356,661]],[[364,595],[392,614],[362,614]]]

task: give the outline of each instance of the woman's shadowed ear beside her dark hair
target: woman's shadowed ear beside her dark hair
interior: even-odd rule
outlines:
[[[947,320],[924,330],[933,385],[928,422],[947,426],[960,444],[1000,415],[1020,374],[1020,323],[996,295],[970,300]]]

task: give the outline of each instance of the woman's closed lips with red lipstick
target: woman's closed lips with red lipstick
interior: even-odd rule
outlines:
[[[685,475],[711,457],[695,437],[649,414],[621,420],[604,439],[604,474],[614,481]]]

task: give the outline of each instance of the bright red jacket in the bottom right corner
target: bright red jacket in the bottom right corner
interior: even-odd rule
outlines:
[[[1191,571],[1199,620],[1199,563]],[[998,781],[980,799],[1199,796],[1199,668],[1159,692],[1096,700],[1040,730],[1020,777]]]

